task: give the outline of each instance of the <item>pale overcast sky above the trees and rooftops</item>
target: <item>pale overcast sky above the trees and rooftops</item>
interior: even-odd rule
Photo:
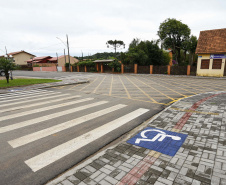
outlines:
[[[160,23],[176,18],[191,33],[226,28],[226,0],[0,0],[0,55],[25,50],[36,56],[113,51],[108,40],[158,39]],[[59,39],[57,39],[57,37]]]

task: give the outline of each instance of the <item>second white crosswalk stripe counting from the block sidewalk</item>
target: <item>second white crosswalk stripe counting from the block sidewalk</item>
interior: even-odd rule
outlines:
[[[104,102],[102,102],[102,104],[103,103]],[[105,103],[107,103],[107,102],[105,102]],[[44,138],[46,136],[55,134],[57,132],[63,131],[65,129],[68,129],[68,128],[71,128],[71,127],[74,127],[74,126],[79,125],[81,123],[87,122],[87,121],[92,120],[94,118],[103,116],[103,115],[108,114],[110,112],[119,110],[119,109],[124,108],[126,106],[127,105],[118,104],[118,105],[115,105],[113,107],[109,107],[109,108],[106,108],[106,109],[103,109],[103,110],[100,110],[100,111],[97,111],[97,112],[94,112],[94,113],[91,113],[91,114],[88,114],[88,115],[85,115],[85,116],[82,116],[82,117],[79,117],[79,118],[76,118],[76,119],[73,119],[73,120],[70,120],[70,121],[49,127],[47,129],[43,129],[43,130],[40,130],[38,132],[34,132],[32,134],[28,134],[26,136],[8,141],[8,143],[13,148],[17,148],[19,146],[31,143],[31,142],[36,141],[38,139]]]

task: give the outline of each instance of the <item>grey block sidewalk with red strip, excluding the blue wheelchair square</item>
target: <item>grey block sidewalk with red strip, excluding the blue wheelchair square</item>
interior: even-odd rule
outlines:
[[[49,184],[226,184],[226,92],[178,101],[147,127],[188,136],[173,157],[122,141]]]

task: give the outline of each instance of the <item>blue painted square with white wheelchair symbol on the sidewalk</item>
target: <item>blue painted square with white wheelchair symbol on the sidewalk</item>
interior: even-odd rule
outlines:
[[[186,138],[186,134],[147,127],[127,143],[174,156]]]

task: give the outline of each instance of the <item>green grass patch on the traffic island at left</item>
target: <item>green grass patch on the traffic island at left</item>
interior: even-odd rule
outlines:
[[[33,84],[42,84],[42,83],[51,83],[51,82],[60,82],[61,80],[53,80],[53,79],[14,79],[9,80],[9,83],[4,80],[0,80],[0,89],[8,88],[8,87],[21,87]]]

